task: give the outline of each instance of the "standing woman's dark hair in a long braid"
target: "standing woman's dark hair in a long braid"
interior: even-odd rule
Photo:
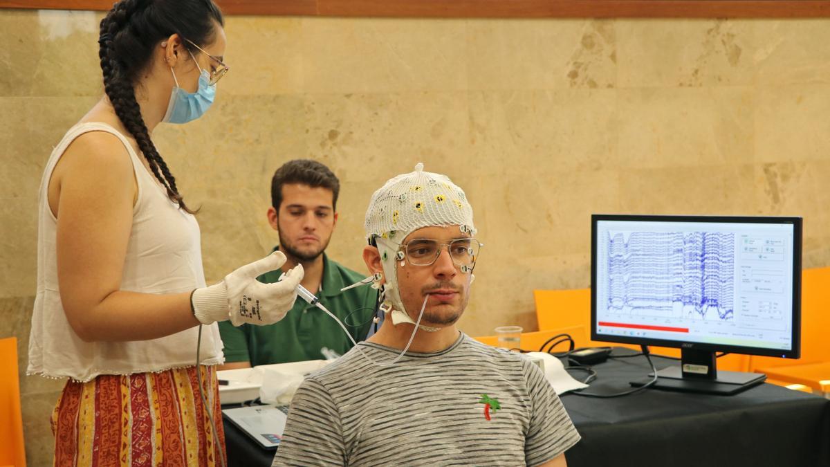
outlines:
[[[159,41],[178,33],[204,43],[212,37],[213,21],[223,23],[222,13],[211,0],[121,0],[100,22],[98,57],[106,95],[121,123],[139,144],[153,175],[167,189],[168,197],[190,214],[195,211],[184,204],[176,179],[150,139],[141,107],[135,100],[134,81]]]

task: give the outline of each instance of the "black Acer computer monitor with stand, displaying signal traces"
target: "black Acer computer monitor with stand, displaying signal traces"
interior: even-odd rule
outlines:
[[[680,348],[658,388],[760,384],[764,375],[717,371],[715,352],[798,358],[801,233],[794,217],[594,214],[592,340]]]

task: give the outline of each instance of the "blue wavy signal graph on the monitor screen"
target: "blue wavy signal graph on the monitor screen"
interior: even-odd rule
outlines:
[[[608,312],[735,317],[735,234],[608,233]]]

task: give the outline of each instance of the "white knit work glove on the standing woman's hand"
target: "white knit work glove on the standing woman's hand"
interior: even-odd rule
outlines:
[[[296,288],[303,279],[302,265],[297,264],[278,283],[261,283],[256,278],[276,271],[285,263],[286,255],[276,251],[238,268],[221,283],[197,288],[190,296],[193,316],[202,324],[229,319],[234,326],[246,322],[261,326],[280,321],[294,306]]]

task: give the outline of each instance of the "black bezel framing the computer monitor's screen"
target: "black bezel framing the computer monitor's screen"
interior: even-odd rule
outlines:
[[[691,222],[723,224],[792,224],[793,225],[793,329],[790,350],[764,347],[732,346],[705,342],[667,341],[652,337],[611,336],[597,332],[597,223],[599,221],[633,222]],[[801,356],[801,254],[802,222],[800,217],[773,216],[706,216],[706,215],[656,215],[656,214],[592,214],[591,215],[591,340],[622,344],[675,347],[705,351],[723,351],[758,356],[799,358]]]

